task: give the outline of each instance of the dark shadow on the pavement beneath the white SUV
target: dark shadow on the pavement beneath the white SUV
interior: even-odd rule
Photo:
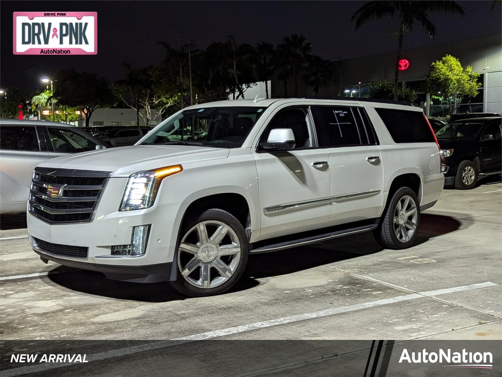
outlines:
[[[422,214],[417,245],[433,237],[458,230],[460,223],[448,216]],[[243,277],[226,294],[246,291],[260,284],[258,278],[294,273],[297,271],[334,263],[382,251],[371,232],[340,237],[330,242],[296,247],[264,254],[249,255]],[[49,278],[57,285],[89,295],[161,303],[186,300],[167,282],[140,284],[107,279],[102,273],[57,267]]]

